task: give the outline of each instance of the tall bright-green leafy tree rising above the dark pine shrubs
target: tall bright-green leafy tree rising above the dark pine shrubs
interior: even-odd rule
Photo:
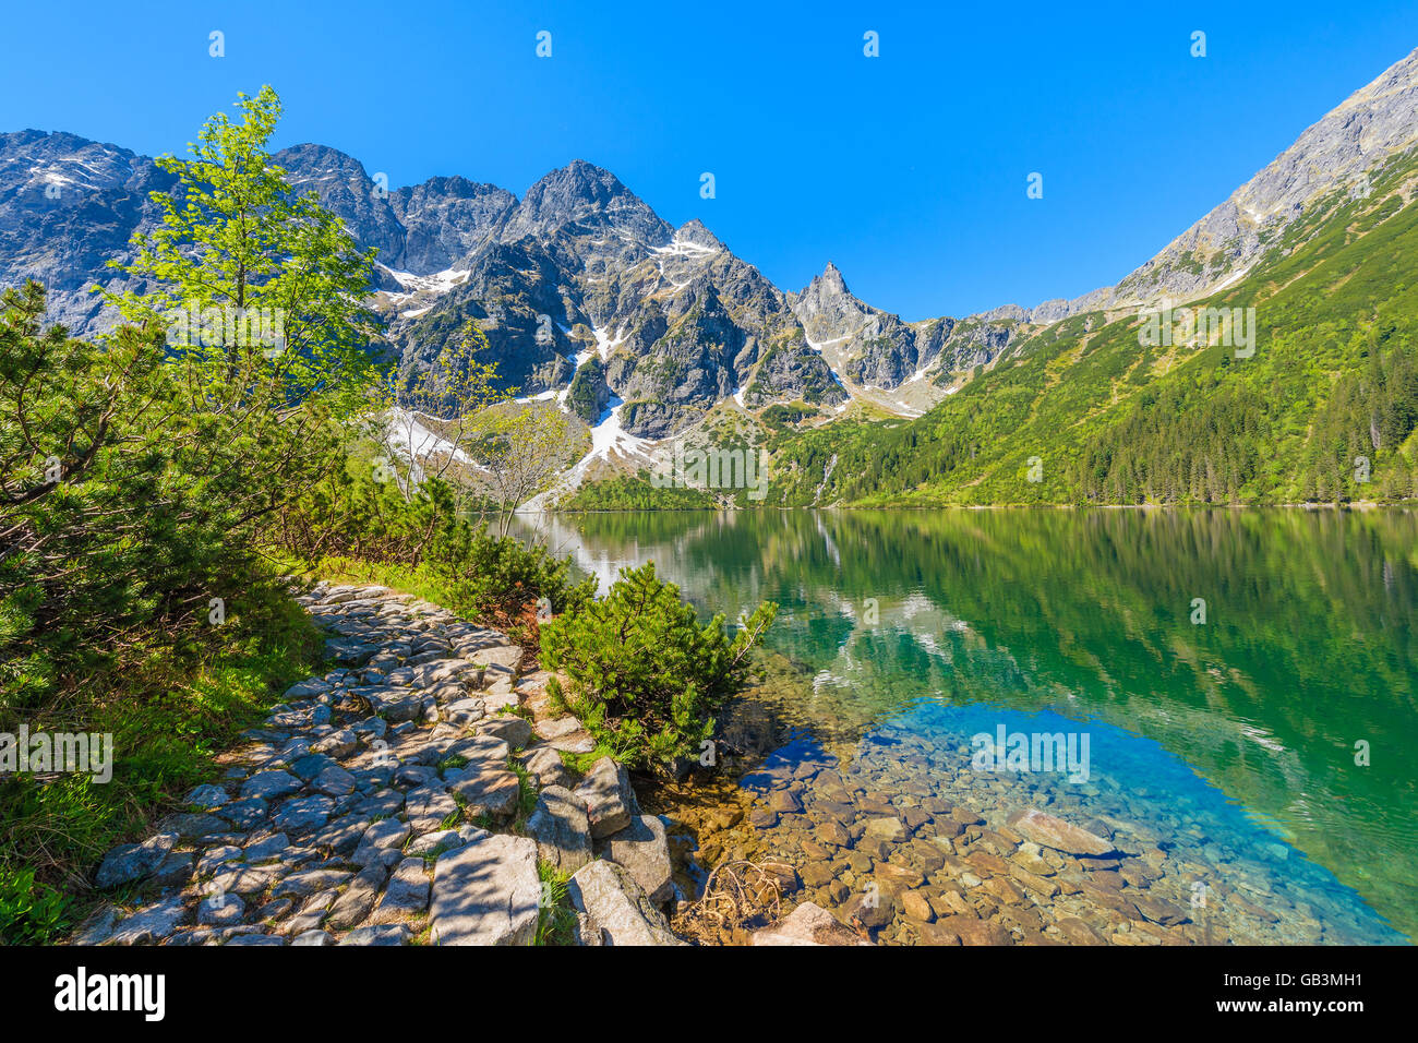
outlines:
[[[163,329],[201,363],[208,400],[323,397],[353,412],[373,379],[379,326],[364,299],[374,251],[360,253],[271,160],[277,92],[241,94],[237,108],[240,119],[207,121],[191,159],[157,159],[177,176],[172,192],[152,193],[162,224],[135,233],[132,263],[109,263],[143,280],[142,291],[102,292],[130,324]]]

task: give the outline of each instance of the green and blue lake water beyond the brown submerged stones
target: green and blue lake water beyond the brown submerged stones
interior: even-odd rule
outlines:
[[[781,670],[760,695],[791,738],[743,786],[803,805],[756,816],[760,850],[800,868],[844,788],[960,805],[987,830],[1035,806],[1112,830],[1120,850],[1161,849],[1144,885],[1234,941],[1418,932],[1411,514],[647,512],[547,534],[603,586],[655,561],[706,610],[780,603]],[[1001,724],[1086,734],[1088,782],[978,771],[971,736]],[[842,904],[864,864],[828,850],[842,864],[813,897]],[[873,851],[922,853],[895,837]],[[1202,908],[1197,880],[1214,888]]]

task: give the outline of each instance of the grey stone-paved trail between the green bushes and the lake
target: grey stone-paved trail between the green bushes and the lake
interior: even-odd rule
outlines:
[[[299,600],[337,668],[289,688],[187,810],[105,856],[95,884],[142,898],[75,944],[530,944],[552,894],[539,861],[573,874],[580,944],[678,944],[664,820],[610,758],[563,765],[594,742],[549,715],[519,647],[379,586]]]

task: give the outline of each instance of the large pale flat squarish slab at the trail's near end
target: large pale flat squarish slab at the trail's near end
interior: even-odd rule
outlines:
[[[440,856],[431,938],[440,945],[530,945],[542,883],[536,841],[485,836]]]

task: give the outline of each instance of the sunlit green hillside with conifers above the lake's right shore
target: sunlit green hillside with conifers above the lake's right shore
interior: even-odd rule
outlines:
[[[1415,194],[1408,153],[1193,302],[1255,308],[1251,358],[1217,342],[1149,348],[1137,315],[1076,315],[919,420],[774,438],[764,505],[1418,495]]]

